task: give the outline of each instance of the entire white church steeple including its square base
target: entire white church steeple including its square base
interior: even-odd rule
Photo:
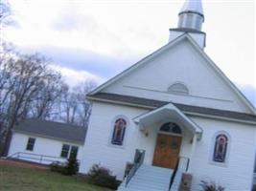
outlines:
[[[204,21],[201,0],[186,0],[182,9],[178,13],[177,28],[170,29],[169,41],[173,41],[176,37],[187,33],[198,46],[203,49],[205,47],[205,32],[201,32],[201,26]]]

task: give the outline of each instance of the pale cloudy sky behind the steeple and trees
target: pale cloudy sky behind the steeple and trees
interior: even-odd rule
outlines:
[[[3,35],[51,57],[71,85],[103,83],[168,42],[184,0],[9,0]],[[256,105],[253,0],[202,0],[205,52]]]

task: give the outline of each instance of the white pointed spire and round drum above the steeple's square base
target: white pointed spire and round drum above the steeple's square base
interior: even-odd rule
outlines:
[[[178,17],[178,28],[200,31],[204,21],[201,0],[186,0]]]

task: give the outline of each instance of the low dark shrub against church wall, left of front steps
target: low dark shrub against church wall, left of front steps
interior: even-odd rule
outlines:
[[[107,168],[102,167],[99,164],[94,164],[92,166],[87,174],[87,180],[90,183],[115,190],[120,183],[118,180],[116,180],[115,176],[112,176],[112,173]]]

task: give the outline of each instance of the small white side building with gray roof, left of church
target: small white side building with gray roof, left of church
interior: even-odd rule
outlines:
[[[12,131],[9,158],[50,164],[70,157],[81,160],[86,128],[31,118]]]

